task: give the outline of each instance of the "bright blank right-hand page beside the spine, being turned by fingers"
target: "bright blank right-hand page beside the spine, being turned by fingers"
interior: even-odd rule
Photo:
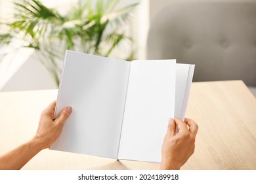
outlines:
[[[118,159],[161,161],[175,111],[175,60],[132,61]]]

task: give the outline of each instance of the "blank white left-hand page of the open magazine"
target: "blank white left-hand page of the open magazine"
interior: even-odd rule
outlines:
[[[66,52],[56,116],[73,108],[51,149],[117,158],[131,63]]]

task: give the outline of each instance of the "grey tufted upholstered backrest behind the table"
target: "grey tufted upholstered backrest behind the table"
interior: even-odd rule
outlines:
[[[170,1],[150,22],[147,52],[196,64],[194,81],[256,86],[256,1]]]

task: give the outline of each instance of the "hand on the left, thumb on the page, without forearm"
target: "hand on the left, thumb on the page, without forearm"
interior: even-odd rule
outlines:
[[[66,107],[60,113],[58,118],[54,118],[56,101],[45,108],[41,114],[37,132],[33,140],[41,144],[41,148],[49,148],[62,132],[63,125],[72,112],[72,107]]]

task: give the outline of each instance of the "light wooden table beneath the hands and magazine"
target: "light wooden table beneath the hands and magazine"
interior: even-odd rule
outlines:
[[[0,93],[0,154],[29,141],[41,111],[57,90]],[[199,125],[196,150],[182,169],[256,169],[256,99],[242,81],[192,84],[188,118]],[[158,169],[155,163],[116,161],[43,150],[23,169]]]

